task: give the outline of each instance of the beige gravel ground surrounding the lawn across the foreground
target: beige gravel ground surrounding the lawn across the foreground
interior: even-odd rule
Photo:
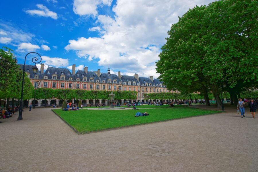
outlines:
[[[258,118],[228,111],[77,135],[49,108],[26,109],[0,120],[0,171],[258,171]]]

